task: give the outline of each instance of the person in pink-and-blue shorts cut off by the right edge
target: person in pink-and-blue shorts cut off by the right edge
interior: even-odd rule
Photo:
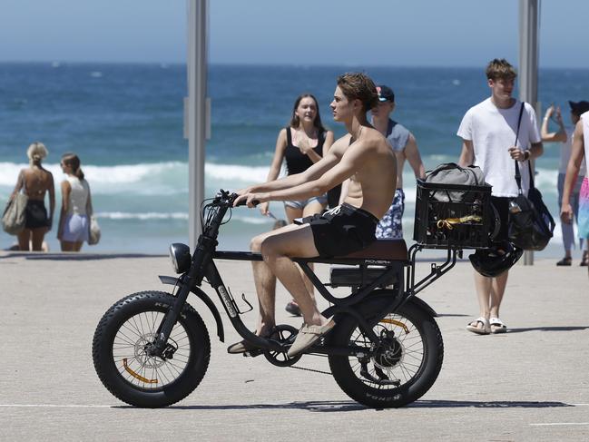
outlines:
[[[563,222],[571,222],[573,208],[571,207],[571,193],[573,192],[574,181],[579,174],[579,169],[584,158],[589,158],[589,112],[581,115],[578,123],[574,126],[573,148],[571,159],[566,168],[564,177],[563,205],[560,210],[560,218]],[[579,217],[577,219],[579,237],[589,240],[589,179],[584,177],[579,192]],[[587,268],[589,270],[589,267]]]

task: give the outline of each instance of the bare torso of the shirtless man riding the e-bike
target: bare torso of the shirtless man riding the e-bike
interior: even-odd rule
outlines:
[[[361,167],[354,173],[348,184],[348,195],[344,202],[369,211],[378,219],[388,211],[395,195],[397,183],[397,158],[381,133],[364,126],[358,140],[348,137],[348,148],[342,161],[353,149],[369,151]]]

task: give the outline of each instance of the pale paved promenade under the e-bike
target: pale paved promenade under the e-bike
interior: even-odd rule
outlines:
[[[245,292],[254,303],[249,265],[221,261],[220,268],[235,298]],[[167,257],[0,252],[0,440],[589,440],[584,268],[553,260],[516,266],[502,311],[509,332],[476,336],[465,329],[477,316],[472,270],[458,263],[421,294],[439,314],[440,376],[417,402],[385,410],[358,405],[330,376],[227,354],[237,334],[226,321],[221,343],[196,298],[189,301],[211,335],[201,386],[171,408],[125,406],[94,372],[93,331],[124,295],[167,290],[159,274],[172,274]],[[286,300],[280,287],[279,321],[299,325],[283,311]],[[329,370],[325,358],[299,365]]]

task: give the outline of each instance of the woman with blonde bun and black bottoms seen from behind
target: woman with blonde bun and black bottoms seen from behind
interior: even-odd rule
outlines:
[[[54,176],[45,170],[41,162],[47,156],[43,142],[34,142],[26,150],[29,167],[18,174],[15,191],[28,197],[25,208],[25,229],[18,234],[18,250],[41,251],[45,233],[51,230],[55,210]],[[45,193],[49,192],[49,216],[45,208]]]

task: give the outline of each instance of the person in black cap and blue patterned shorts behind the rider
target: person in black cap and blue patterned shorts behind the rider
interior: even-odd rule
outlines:
[[[388,86],[377,86],[378,106],[372,108],[372,125],[385,135],[388,144],[397,156],[397,190],[395,198],[385,216],[378,222],[376,236],[379,239],[403,239],[403,212],[405,193],[403,192],[403,166],[409,162],[416,178],[425,178],[426,171],[417,149],[413,133],[390,119],[395,109],[395,93]]]

